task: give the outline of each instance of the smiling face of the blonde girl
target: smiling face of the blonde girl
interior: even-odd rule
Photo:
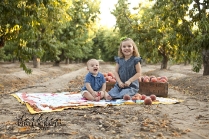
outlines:
[[[129,58],[133,55],[134,46],[130,43],[130,41],[124,41],[121,45],[121,51],[125,58]]]

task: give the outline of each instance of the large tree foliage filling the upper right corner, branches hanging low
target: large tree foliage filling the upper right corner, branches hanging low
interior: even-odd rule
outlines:
[[[170,10],[167,9],[169,5]],[[175,44],[177,50],[184,54],[181,55],[184,57],[183,59],[191,59],[194,71],[199,72],[203,64],[203,75],[209,75],[209,1],[184,0],[170,2],[169,0],[158,0],[153,9],[155,11],[162,10],[156,15],[160,15],[163,21],[170,19],[170,21],[178,23],[176,26],[171,26],[176,32]],[[166,12],[168,10],[169,12]],[[167,22],[167,25],[170,26],[170,22]],[[180,56],[179,53],[175,55]]]

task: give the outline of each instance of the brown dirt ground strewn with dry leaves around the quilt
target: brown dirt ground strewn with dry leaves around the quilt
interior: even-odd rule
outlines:
[[[28,64],[32,68],[31,64]],[[143,65],[143,75],[167,76],[168,97],[184,100],[171,105],[121,105],[67,109],[31,115],[11,96],[16,92],[62,92],[78,90],[70,85],[87,73],[85,64],[41,64],[30,75],[18,63],[0,63],[0,138],[2,139],[209,139],[209,76],[191,66]],[[101,64],[101,72],[114,64]],[[24,117],[22,117],[24,116]],[[57,119],[47,129],[18,125],[18,119]],[[28,119],[27,119],[28,118]]]

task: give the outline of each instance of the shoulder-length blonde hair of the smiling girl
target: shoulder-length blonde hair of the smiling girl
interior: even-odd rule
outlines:
[[[130,41],[130,42],[131,42],[131,44],[132,44],[132,45],[133,45],[133,47],[134,47],[133,56],[135,56],[135,57],[139,57],[140,55],[139,55],[138,48],[137,48],[137,46],[136,46],[135,42],[134,42],[131,38],[126,38],[126,39],[124,39],[124,40],[122,40],[122,41],[121,41],[121,43],[120,43],[120,47],[119,47],[119,49],[118,49],[118,56],[119,56],[119,57],[122,57],[122,58],[124,58],[124,57],[125,57],[125,56],[123,55],[123,53],[122,53],[122,49],[121,49],[121,47],[122,47],[122,43],[123,43],[123,42],[126,42],[126,41]]]

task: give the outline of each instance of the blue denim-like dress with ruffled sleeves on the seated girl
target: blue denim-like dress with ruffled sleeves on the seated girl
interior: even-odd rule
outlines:
[[[135,65],[138,62],[141,62],[141,57],[132,56],[130,59],[125,61],[124,58],[115,57],[116,63],[119,64],[118,75],[123,83],[136,74]],[[138,79],[133,81],[130,86],[125,88],[120,88],[118,82],[114,87],[108,92],[109,95],[113,98],[123,98],[125,94],[134,96],[139,91],[139,81]]]

